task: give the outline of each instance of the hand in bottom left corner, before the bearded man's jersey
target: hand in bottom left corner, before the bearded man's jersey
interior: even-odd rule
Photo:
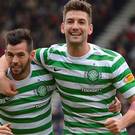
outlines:
[[[5,124],[0,126],[0,135],[13,135],[10,127],[11,124]]]

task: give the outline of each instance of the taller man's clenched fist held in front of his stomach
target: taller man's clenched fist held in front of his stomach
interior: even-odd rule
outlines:
[[[105,121],[105,127],[108,128],[112,133],[118,134],[122,129],[122,122],[120,119],[108,118]]]

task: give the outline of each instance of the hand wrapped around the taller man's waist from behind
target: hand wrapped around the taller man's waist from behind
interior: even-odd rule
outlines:
[[[110,112],[120,112],[121,111],[121,103],[117,97],[115,98],[115,102],[109,106],[109,111]]]

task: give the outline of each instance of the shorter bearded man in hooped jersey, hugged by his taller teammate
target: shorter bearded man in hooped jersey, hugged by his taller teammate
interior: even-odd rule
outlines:
[[[7,76],[18,93],[0,94],[0,134],[52,135],[51,95],[55,81],[49,72],[31,63],[33,40],[27,29],[6,34]],[[9,124],[10,123],[10,124]]]

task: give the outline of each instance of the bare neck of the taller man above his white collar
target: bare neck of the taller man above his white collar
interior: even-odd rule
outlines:
[[[67,45],[67,48],[68,48],[68,53],[74,57],[81,57],[87,54],[90,50],[90,46],[88,45],[88,43],[83,45],[78,45],[78,44]]]

